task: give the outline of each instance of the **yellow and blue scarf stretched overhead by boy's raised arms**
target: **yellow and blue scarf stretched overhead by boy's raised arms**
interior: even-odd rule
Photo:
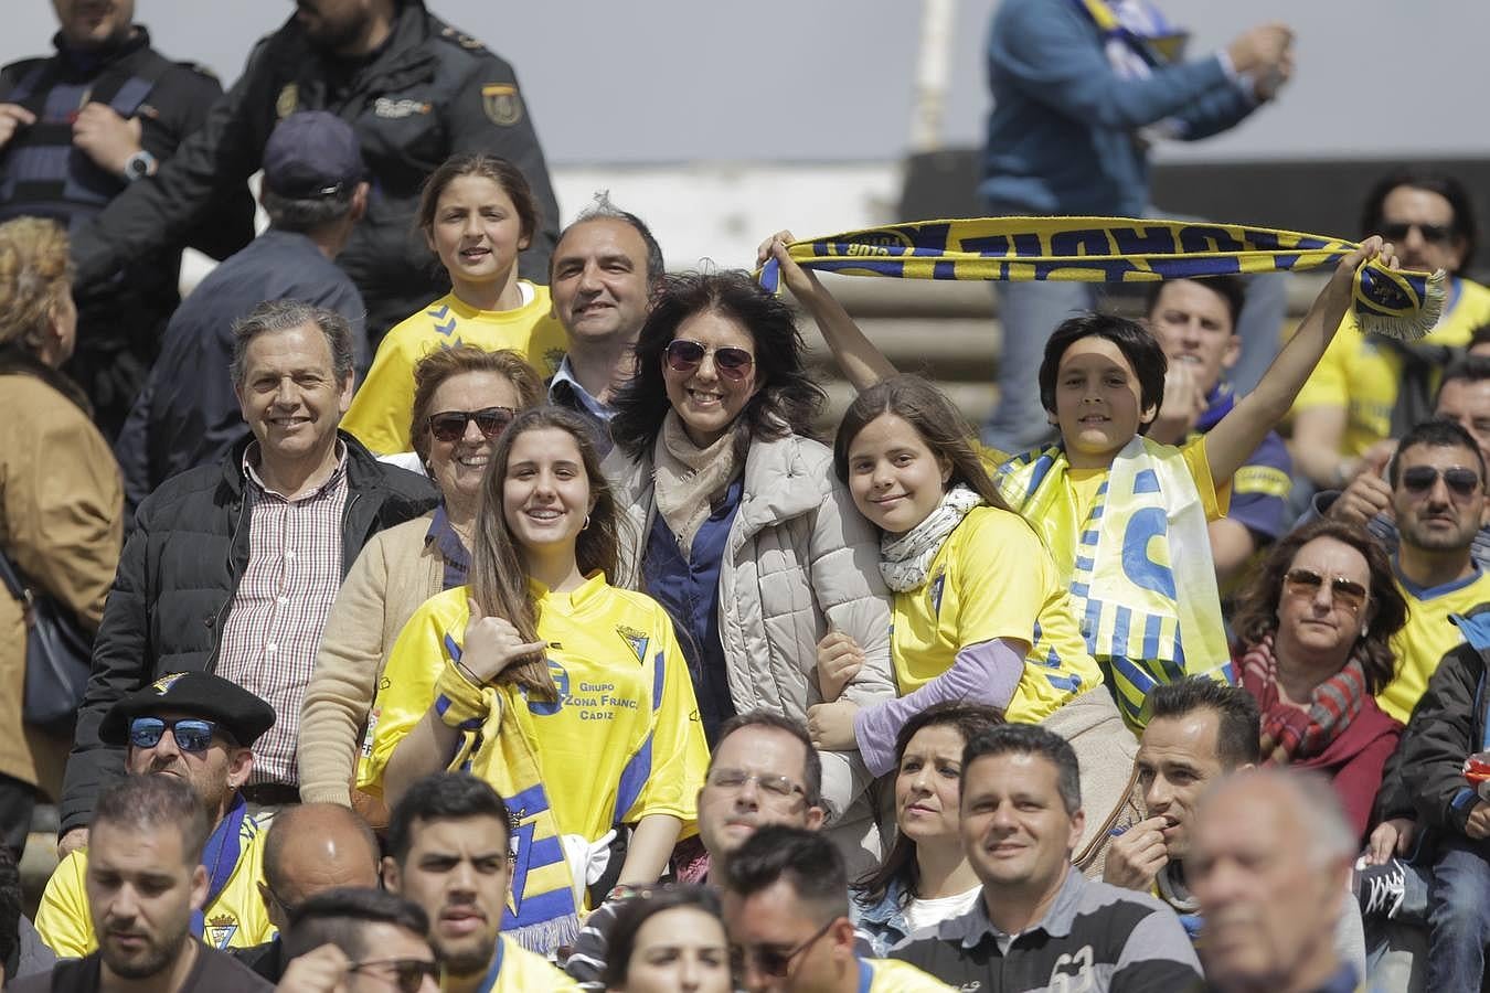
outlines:
[[[1284,272],[1332,265],[1359,247],[1296,231],[1128,217],[973,217],[919,220],[794,241],[797,265],[846,275],[912,280],[1143,283]],[[775,290],[776,261],[761,284]],[[1438,323],[1447,274],[1399,272],[1378,261],[1356,271],[1360,329],[1404,341]]]

